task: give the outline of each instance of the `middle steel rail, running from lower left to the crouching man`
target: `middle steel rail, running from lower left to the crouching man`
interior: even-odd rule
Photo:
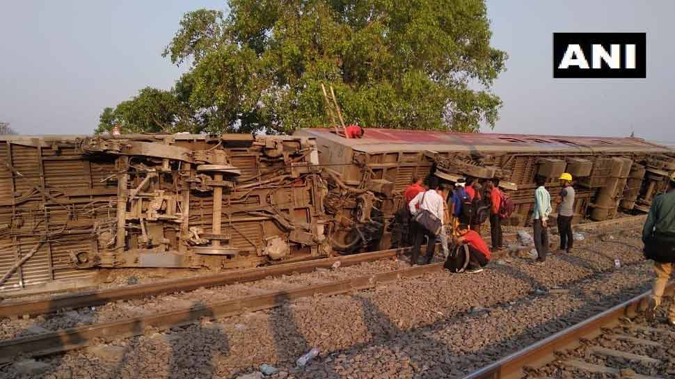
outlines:
[[[264,295],[248,296],[208,305],[197,303],[189,308],[161,312],[149,316],[126,318],[120,321],[98,323],[34,336],[7,339],[0,341],[0,363],[10,362],[19,355],[39,357],[63,353],[67,350],[85,348],[96,339],[133,337],[143,334],[144,330],[148,328],[166,330],[175,326],[193,323],[203,317],[213,319],[235,316],[244,312],[261,309],[270,309],[298,298],[317,295],[329,296],[370,289],[376,287],[378,284],[395,282],[404,278],[417,277],[441,270],[443,270],[442,263],[413,266],[397,271],[354,277],[352,279],[338,280],[326,284],[301,287],[299,289],[274,291]]]

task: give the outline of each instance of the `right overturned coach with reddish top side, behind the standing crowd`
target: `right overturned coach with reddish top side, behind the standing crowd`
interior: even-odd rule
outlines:
[[[562,172],[575,178],[576,218],[613,218],[618,211],[649,211],[675,170],[675,154],[640,138],[456,134],[442,131],[367,129],[346,139],[331,129],[303,129],[315,138],[324,177],[332,186],[324,205],[334,216],[333,248],[353,251],[399,245],[397,211],[413,176],[499,179],[516,209],[507,220],[524,225],[534,207],[534,177],[549,180],[555,196]],[[516,191],[517,188],[517,191]],[[354,191],[365,191],[362,195]],[[334,207],[328,207],[337,204]],[[365,231],[379,230],[380,234]]]

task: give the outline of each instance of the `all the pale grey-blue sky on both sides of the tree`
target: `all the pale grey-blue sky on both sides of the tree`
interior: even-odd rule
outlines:
[[[509,54],[495,129],[636,136],[675,145],[675,1],[487,0]],[[183,13],[224,0],[7,1],[0,13],[0,122],[21,134],[89,134],[105,106],[182,67],[161,56]],[[646,79],[553,79],[553,32],[646,32]]]

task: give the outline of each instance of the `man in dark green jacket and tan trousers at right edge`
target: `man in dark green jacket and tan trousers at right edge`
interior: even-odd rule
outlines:
[[[675,173],[670,176],[666,193],[657,195],[651,202],[649,215],[642,229],[645,256],[654,260],[653,292],[646,318],[653,319],[661,305],[663,292],[670,275],[675,271]],[[675,300],[670,303],[668,322],[675,326]]]

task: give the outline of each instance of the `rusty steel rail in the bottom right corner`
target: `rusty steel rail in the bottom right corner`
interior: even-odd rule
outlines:
[[[669,284],[671,291],[674,284]],[[647,301],[651,291],[635,296],[624,303],[596,314],[581,323],[557,332],[546,339],[527,346],[516,353],[489,364],[463,379],[518,379],[523,378],[525,367],[539,368],[555,360],[554,353],[559,350],[575,348],[581,344],[581,339],[593,339],[602,334],[603,328],[611,328],[619,323],[622,316],[635,316],[642,301]]]

